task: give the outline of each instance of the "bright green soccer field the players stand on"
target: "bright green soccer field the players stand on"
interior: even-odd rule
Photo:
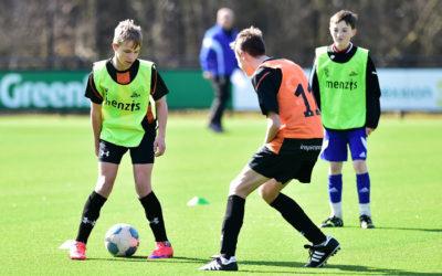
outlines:
[[[0,275],[215,274],[197,269],[219,252],[229,183],[261,146],[266,127],[262,116],[233,115],[225,123],[228,132],[215,135],[206,129],[202,116],[169,118],[167,150],[156,160],[152,187],[162,204],[173,258],[146,259],[154,237],[126,155],[87,244],[88,259],[75,262],[59,246],[75,238],[96,181],[88,117],[1,116]],[[441,117],[382,117],[368,147],[376,229],[359,227],[356,177],[347,162],[345,227],[325,231],[341,250],[324,268],[304,268],[307,241],[255,192],[245,204],[235,275],[441,275]],[[329,214],[327,171],[319,160],[311,184],[293,181],[285,189],[316,223]],[[196,195],[210,204],[187,206]],[[104,246],[107,229],[119,222],[140,235],[130,258],[113,257]]]

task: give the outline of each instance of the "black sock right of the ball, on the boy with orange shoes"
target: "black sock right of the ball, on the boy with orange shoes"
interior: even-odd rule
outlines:
[[[139,199],[141,205],[145,208],[146,219],[149,222],[149,226],[154,233],[156,242],[165,242],[167,240],[165,221],[162,219],[161,204],[159,203],[157,195],[154,191],[149,194]]]

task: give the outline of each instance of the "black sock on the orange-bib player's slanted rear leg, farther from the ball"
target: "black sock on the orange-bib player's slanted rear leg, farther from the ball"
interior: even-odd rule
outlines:
[[[303,209],[287,195],[280,193],[270,205],[280,211],[283,217],[313,244],[319,244],[327,238]]]

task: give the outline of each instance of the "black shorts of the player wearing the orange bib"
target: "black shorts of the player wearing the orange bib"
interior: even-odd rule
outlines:
[[[297,179],[309,183],[312,171],[320,152],[323,139],[284,139],[276,155],[267,147],[262,147],[249,162],[257,173],[274,178],[285,183]]]

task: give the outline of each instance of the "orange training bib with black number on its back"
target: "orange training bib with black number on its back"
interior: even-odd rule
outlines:
[[[309,91],[304,71],[294,62],[284,59],[267,60],[260,67],[278,68],[282,72],[281,86],[276,95],[282,126],[275,139],[266,146],[277,153],[284,138],[323,138],[320,112]],[[255,91],[265,77],[266,74],[257,81]]]

